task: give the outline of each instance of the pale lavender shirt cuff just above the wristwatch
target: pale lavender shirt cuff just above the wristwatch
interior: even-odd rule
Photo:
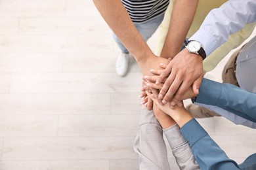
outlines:
[[[199,41],[203,46],[203,50],[205,50],[206,56],[209,56],[209,54],[211,54],[214,50],[216,50],[216,48],[220,46],[219,40],[205,29],[199,29],[188,40]]]

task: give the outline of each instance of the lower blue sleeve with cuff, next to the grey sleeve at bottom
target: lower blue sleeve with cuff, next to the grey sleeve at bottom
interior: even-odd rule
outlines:
[[[200,169],[239,169],[238,164],[226,156],[225,152],[209,137],[195,119],[184,124],[181,133],[190,144]]]

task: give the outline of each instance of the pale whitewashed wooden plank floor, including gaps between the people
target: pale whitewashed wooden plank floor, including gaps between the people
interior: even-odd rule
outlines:
[[[133,61],[117,76],[118,53],[92,1],[1,0],[0,169],[139,169],[142,75]],[[207,76],[220,80],[221,66]],[[238,163],[256,152],[255,130],[199,121]]]

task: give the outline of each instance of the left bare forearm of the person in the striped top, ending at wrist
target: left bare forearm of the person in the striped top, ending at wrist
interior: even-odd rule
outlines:
[[[93,0],[93,2],[106,23],[138,62],[152,53],[121,1]]]

